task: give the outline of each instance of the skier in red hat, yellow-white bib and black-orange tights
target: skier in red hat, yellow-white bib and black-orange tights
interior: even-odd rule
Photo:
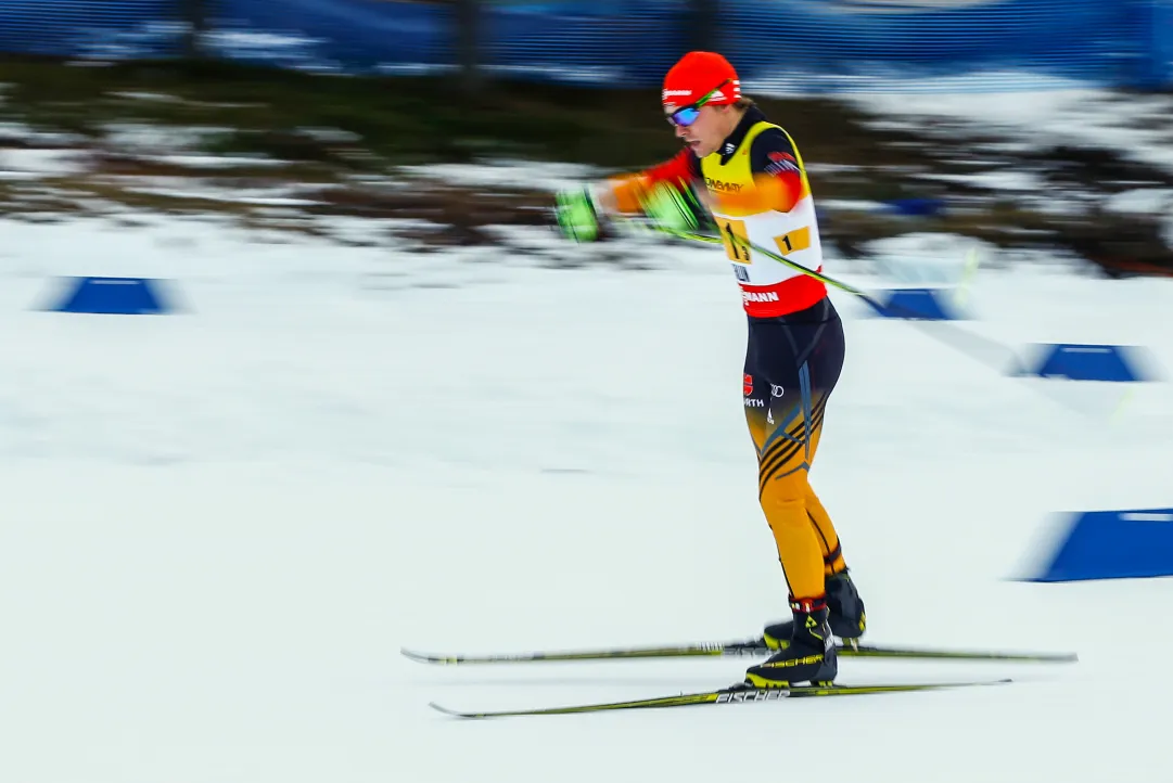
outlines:
[[[638,173],[560,192],[558,226],[591,241],[608,218],[642,215],[667,232],[719,232],[748,321],[745,415],[793,615],[766,626],[778,652],[750,667],[746,681],[829,682],[839,670],[834,636],[855,644],[866,626],[839,535],[808,481],[843,366],[843,327],[820,280],[752,247],[821,272],[807,172],[789,134],[741,95],[720,54],[691,52],[677,62],[662,104],[684,149]]]

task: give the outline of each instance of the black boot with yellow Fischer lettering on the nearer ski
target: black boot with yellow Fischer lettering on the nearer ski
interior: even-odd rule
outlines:
[[[778,653],[746,669],[747,685],[755,688],[787,688],[798,682],[821,685],[839,674],[827,600],[792,601],[791,610],[794,612],[791,638]]]

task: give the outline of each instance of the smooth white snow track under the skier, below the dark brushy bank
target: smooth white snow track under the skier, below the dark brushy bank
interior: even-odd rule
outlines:
[[[1028,382],[835,294],[813,472],[876,644],[1072,667],[845,661],[995,689],[460,723],[635,699],[737,661],[446,670],[400,647],[743,638],[785,610],[718,251],[644,272],[249,243],[215,223],[6,224],[0,778],[23,783],[1162,779],[1173,581],[1011,578],[1051,515],[1173,506],[1173,394]],[[567,248],[570,252],[590,252]],[[828,264],[830,274],[881,284]],[[187,313],[30,309],[56,274],[170,278]],[[1134,342],[1168,280],[985,270],[960,328]],[[952,326],[948,328],[954,328]]]

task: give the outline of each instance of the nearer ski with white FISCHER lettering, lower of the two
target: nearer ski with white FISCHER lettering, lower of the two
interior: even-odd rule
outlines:
[[[750,704],[782,699],[807,699],[821,696],[859,696],[882,693],[909,693],[917,690],[944,690],[986,685],[1003,685],[1011,680],[971,680],[965,682],[914,682],[902,685],[827,685],[827,686],[791,686],[789,688],[755,688],[738,683],[728,688],[705,690],[701,693],[678,694],[635,701],[616,701],[594,704],[571,704],[567,707],[538,707],[534,709],[502,709],[495,711],[461,711],[441,707],[432,702],[433,709],[453,717],[484,719],[514,717],[521,715],[568,715],[574,713],[605,713],[628,709],[662,709],[666,707],[699,707],[705,704]]]

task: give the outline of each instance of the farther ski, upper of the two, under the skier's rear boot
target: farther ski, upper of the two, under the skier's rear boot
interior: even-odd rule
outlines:
[[[882,647],[874,645],[836,644],[841,658],[884,658],[909,660],[952,661],[1019,661],[1035,663],[1073,663],[1076,653],[1030,653],[979,649],[933,649],[924,647]],[[775,653],[765,639],[730,642],[703,642],[693,645],[670,645],[662,647],[617,647],[577,651],[548,651],[533,653],[506,653],[490,655],[438,655],[411,649],[400,651],[405,656],[420,663],[446,666],[482,663],[534,663],[557,661],[608,661],[658,658],[766,658]]]

